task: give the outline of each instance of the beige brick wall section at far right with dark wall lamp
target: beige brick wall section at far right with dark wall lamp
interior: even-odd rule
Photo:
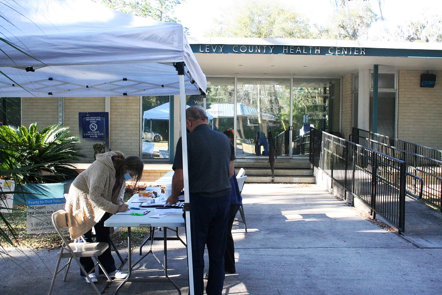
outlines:
[[[434,73],[434,88],[419,86],[421,74],[399,71],[397,138],[442,149],[442,72]]]

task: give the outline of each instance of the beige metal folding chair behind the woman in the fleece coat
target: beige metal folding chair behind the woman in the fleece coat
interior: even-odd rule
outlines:
[[[57,231],[58,235],[60,236],[61,240],[63,241],[60,252],[58,254],[58,260],[57,260],[57,266],[55,267],[54,276],[52,278],[51,288],[49,289],[49,295],[52,293],[52,289],[54,287],[55,278],[57,277],[58,273],[60,273],[63,268],[64,270],[64,278],[63,282],[66,281],[66,277],[68,276],[69,267],[71,266],[71,261],[74,259],[78,265],[80,266],[81,271],[84,273],[86,277],[89,277],[89,274],[92,272],[92,270],[95,269],[97,265],[100,266],[100,268],[103,270],[104,275],[109,281],[112,281],[111,277],[109,277],[109,274],[104,269],[101,262],[98,260],[98,256],[103,254],[103,252],[109,247],[107,243],[100,242],[100,243],[69,243],[68,240],[64,237],[64,234],[62,233],[62,229],[68,227],[68,213],[64,210],[58,210],[52,214],[52,225],[54,225],[55,230]],[[97,261],[97,263],[94,265],[94,268],[88,273],[83,266],[80,263],[79,257],[93,257]],[[62,258],[69,258],[68,262],[60,269],[58,267],[60,266],[60,262]],[[97,292],[98,295],[101,295],[101,292],[97,289],[94,282],[90,280],[90,283],[92,287],[94,288],[95,292]]]

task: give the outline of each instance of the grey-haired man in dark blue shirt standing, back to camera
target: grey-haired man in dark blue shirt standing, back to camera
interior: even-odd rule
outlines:
[[[203,108],[186,110],[190,232],[192,242],[193,285],[195,295],[204,293],[204,250],[209,254],[207,295],[220,295],[224,284],[224,252],[230,211],[230,177],[235,173],[235,154],[229,138],[212,130]],[[172,194],[167,202],[175,204],[183,187],[183,150],[176,144]]]

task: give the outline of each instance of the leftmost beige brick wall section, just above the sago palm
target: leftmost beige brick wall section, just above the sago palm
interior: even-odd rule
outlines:
[[[28,127],[37,122],[38,130],[58,124],[57,97],[23,97],[21,100],[21,124]]]

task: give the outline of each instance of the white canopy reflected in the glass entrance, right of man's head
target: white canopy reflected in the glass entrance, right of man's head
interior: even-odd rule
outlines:
[[[213,103],[207,110],[208,114],[211,114],[214,118],[233,118],[234,114],[234,104],[233,103]],[[264,120],[276,120],[276,116],[259,113],[258,109],[245,106],[242,103],[236,104],[236,116],[247,116],[247,117],[257,117],[258,114]]]

